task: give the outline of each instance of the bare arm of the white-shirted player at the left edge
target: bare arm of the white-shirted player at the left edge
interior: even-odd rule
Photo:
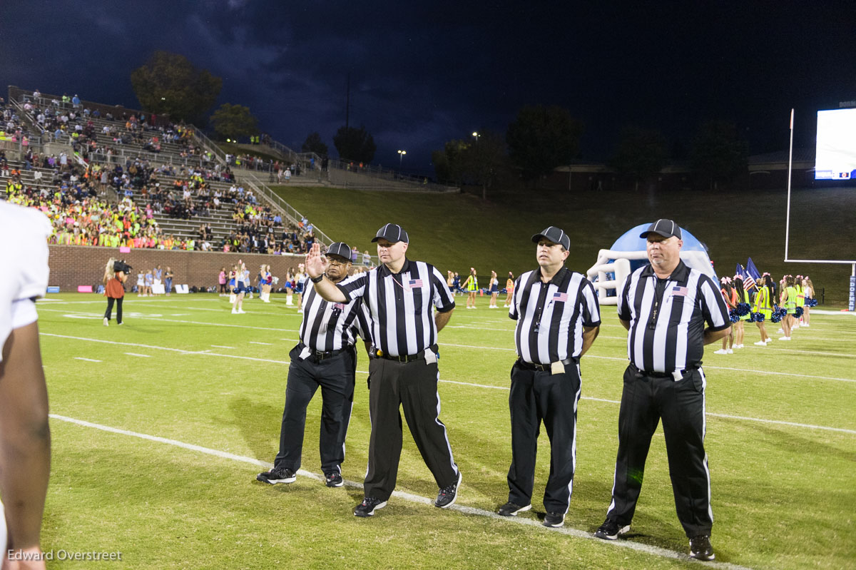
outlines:
[[[39,325],[11,332],[0,363],[0,494],[9,525],[8,549],[40,552],[39,529],[51,471],[48,393],[39,352]],[[3,559],[6,553],[3,553]],[[32,561],[5,561],[6,568]]]

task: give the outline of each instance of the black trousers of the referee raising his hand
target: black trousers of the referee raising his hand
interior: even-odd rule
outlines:
[[[366,496],[386,501],[395,490],[401,458],[400,408],[437,487],[443,489],[457,482],[458,466],[452,458],[446,426],[439,418],[438,379],[437,363],[426,364],[425,359],[407,363],[387,359],[369,361],[372,436],[363,485]]]

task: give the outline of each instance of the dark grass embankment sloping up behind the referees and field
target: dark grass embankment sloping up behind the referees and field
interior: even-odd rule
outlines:
[[[341,188],[277,187],[283,199],[336,240],[360,252],[383,223],[401,223],[410,234],[411,258],[440,270],[466,275],[479,271],[479,284],[496,270],[504,285],[508,271],[535,266],[529,237],[549,225],[571,236],[568,266],[585,272],[597,251],[640,223],[668,217],[710,248],[720,276],[733,275],[746,258],[779,279],[808,274],[825,288],[826,303],[847,301],[850,266],[784,263],[786,194],[752,193],[562,193],[521,191],[495,194],[484,202],[472,194],[369,192]],[[788,256],[799,259],[856,258],[856,190],[798,189],[792,193]]]

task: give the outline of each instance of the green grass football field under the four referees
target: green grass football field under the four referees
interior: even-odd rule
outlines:
[[[39,301],[55,414],[43,547],[122,552],[121,562],[49,567],[698,567],[686,556],[659,430],[631,535],[591,537],[609,504],[626,365],[614,308],[604,307],[582,362],[578,468],[561,531],[538,520],[549,468],[544,433],[532,512],[491,515],[508,493],[514,342],[513,322],[489,310],[486,297],[477,311],[456,311],[440,335],[441,419],[463,473],[458,502],[430,504],[437,489],[406,434],[399,494],[368,520],[352,514],[369,435],[365,355],[342,466],[350,484],[328,489],[319,480],[320,395],[308,413],[303,476],[257,483],[276,454],[300,314],[284,295],[245,309],[229,314],[227,300],[212,294],[131,294],[126,324],[104,328],[103,297]],[[815,313],[794,341],[765,348],[752,346],[750,326],[746,348],[717,355],[717,343],[704,359],[712,565],[856,567],[856,318]]]

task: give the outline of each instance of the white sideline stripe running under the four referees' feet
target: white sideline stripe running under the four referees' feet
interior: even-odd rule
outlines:
[[[175,447],[188,449],[190,451],[197,451],[197,452],[202,453],[202,454],[214,455],[215,457],[220,457],[222,459],[241,461],[242,463],[248,463],[250,465],[260,466],[260,467],[265,467],[265,468],[272,467],[272,465],[270,463],[267,463],[265,461],[260,461],[257,459],[253,459],[253,457],[247,457],[246,455],[230,454],[226,451],[220,451],[219,449],[204,448],[200,445],[194,445],[193,443],[179,442],[175,439],[168,439],[166,437],[150,436],[148,434],[139,433],[137,431],[120,430],[118,428],[110,427],[109,425],[93,424],[92,422],[87,422],[87,421],[84,421],[82,419],[68,418],[67,416],[61,416],[61,415],[56,414],[56,413],[51,413],[50,417],[51,417],[51,419],[58,419],[58,420],[63,421],[63,422],[68,422],[69,424],[76,424],[76,425],[81,425],[83,427],[94,428],[96,430],[108,431],[110,433],[115,433],[115,434],[122,435],[122,436],[139,437],[140,439],[146,439],[150,442],[166,443],[167,445],[173,445]],[[303,469],[298,470],[297,474],[300,475],[301,477],[312,478],[312,479],[315,479],[318,481],[323,480],[323,478],[321,478],[321,476],[319,476],[315,473],[312,473],[312,472],[304,471]],[[348,487],[355,487],[358,489],[362,489],[362,487],[363,487],[363,484],[356,483],[354,481],[345,481],[345,484],[348,485]],[[421,503],[424,505],[432,505],[434,502],[433,499],[429,499],[429,498],[426,498],[424,496],[413,495],[411,493],[405,493],[402,491],[393,491],[392,496],[395,496],[396,498],[400,498],[400,499],[403,499],[403,500],[408,501],[408,502],[417,502],[417,503]],[[455,510],[455,511],[458,511],[459,513],[463,513],[463,514],[475,514],[475,515],[487,517],[487,518],[490,518],[493,520],[502,521],[503,523],[506,523],[506,524],[533,526],[533,527],[536,527],[538,529],[538,531],[559,532],[561,534],[565,534],[565,535],[568,535],[570,537],[586,538],[588,540],[596,540],[598,543],[603,543],[604,547],[626,548],[626,549],[636,550],[638,552],[643,552],[645,554],[660,556],[662,558],[671,558],[674,560],[683,560],[683,561],[691,561],[692,560],[688,555],[682,554],[680,552],[675,552],[674,550],[663,549],[663,548],[659,548],[657,546],[650,546],[648,544],[633,543],[633,542],[630,542],[627,540],[615,540],[615,541],[603,540],[602,541],[601,539],[595,537],[594,534],[591,532],[580,531],[579,529],[568,528],[568,527],[547,528],[544,525],[542,525],[540,523],[540,521],[535,520],[535,519],[527,519],[527,518],[521,518],[521,517],[501,517],[496,513],[492,513],[490,511],[485,511],[482,508],[465,507],[463,505],[455,504],[455,505],[452,505],[451,507],[449,507],[449,510]],[[730,564],[728,562],[717,562],[717,561],[704,562],[704,567],[728,568],[728,570],[749,570],[748,567],[743,567],[743,566],[739,566],[736,564]]]

